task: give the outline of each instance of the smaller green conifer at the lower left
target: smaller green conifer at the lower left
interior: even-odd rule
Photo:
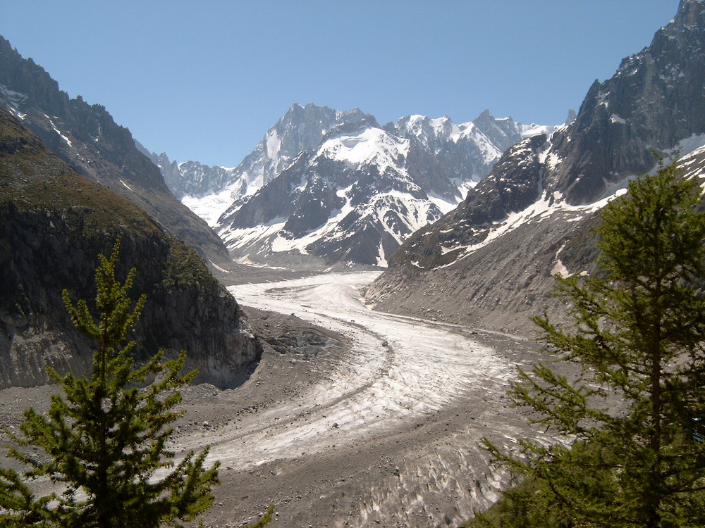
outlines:
[[[130,300],[135,270],[124,284],[115,276],[119,242],[99,255],[95,320],[87,303],[63,301],[73,324],[97,343],[92,375],[49,375],[63,396],[51,397],[47,415],[25,411],[18,444],[8,456],[27,467],[0,470],[0,525],[62,528],[157,528],[195,520],[212,505],[218,465],[205,467],[208,448],[180,461],[167,446],[171,424],[183,415],[178,390],[195,377],[182,375],[185,353],[163,360],[159,351],[136,366],[124,344],[146,298]],[[124,344],[124,345],[123,345]],[[149,383],[147,383],[149,382]],[[27,454],[39,448],[39,454]],[[49,478],[58,491],[35,497],[31,479]]]

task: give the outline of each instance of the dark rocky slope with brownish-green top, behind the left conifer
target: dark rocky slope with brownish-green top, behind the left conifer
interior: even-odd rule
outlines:
[[[192,249],[0,108],[0,387],[47,382],[44,365],[90,370],[90,344],[73,329],[61,290],[90,302],[97,253],[118,236],[118,273],[137,268],[133,294],[148,298],[133,335],[140,356],[186,349],[189,367],[219,386],[257,359],[238,304]]]

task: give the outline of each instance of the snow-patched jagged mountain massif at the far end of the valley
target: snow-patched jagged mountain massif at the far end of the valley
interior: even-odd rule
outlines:
[[[293,105],[235,169],[154,156],[171,189],[245,262],[386,266],[515,142],[550,130],[484,111],[457,125]],[[171,172],[171,175],[168,175]]]

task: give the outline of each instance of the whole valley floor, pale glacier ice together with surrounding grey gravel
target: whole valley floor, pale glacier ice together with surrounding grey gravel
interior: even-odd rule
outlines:
[[[477,441],[525,434],[505,391],[535,344],[376,313],[362,298],[375,275],[231,287],[262,360],[237,389],[185,389],[174,435],[221,460],[207,526],[240,527],[271,504],[274,527],[457,526],[497,498],[505,475]],[[0,391],[0,420],[16,427],[53,390]]]

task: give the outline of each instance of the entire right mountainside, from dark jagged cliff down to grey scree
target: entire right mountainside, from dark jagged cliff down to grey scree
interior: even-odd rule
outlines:
[[[651,46],[595,82],[570,125],[513,146],[457,209],[416,232],[367,291],[401,313],[527,331],[529,317],[560,317],[552,275],[590,272],[596,211],[652,151],[705,143],[705,4],[682,0]],[[701,154],[684,161],[699,175]]]

